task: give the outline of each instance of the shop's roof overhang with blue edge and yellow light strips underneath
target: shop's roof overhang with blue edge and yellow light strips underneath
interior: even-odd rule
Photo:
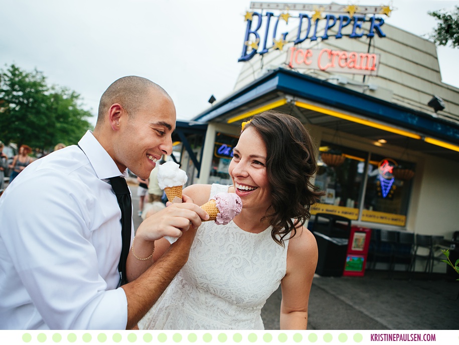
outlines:
[[[392,145],[459,161],[459,123],[284,68],[266,73],[193,121],[240,126],[267,109],[289,113],[306,125],[372,141],[384,138]]]

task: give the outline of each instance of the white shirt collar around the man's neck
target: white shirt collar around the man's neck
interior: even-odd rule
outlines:
[[[127,169],[120,173],[116,163],[110,157],[107,151],[100,145],[91,131],[87,131],[78,145],[88,157],[96,175],[99,179],[107,179],[114,176],[127,177]]]

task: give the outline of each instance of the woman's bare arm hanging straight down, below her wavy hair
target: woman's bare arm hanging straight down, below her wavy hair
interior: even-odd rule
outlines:
[[[318,258],[314,235],[305,227],[289,240],[287,270],[282,278],[280,329],[306,329],[308,302]]]

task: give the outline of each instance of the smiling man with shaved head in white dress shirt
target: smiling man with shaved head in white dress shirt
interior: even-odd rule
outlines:
[[[108,178],[126,177],[129,168],[147,179],[171,154],[175,123],[164,89],[120,78],[102,95],[94,132],[79,147],[35,161],[7,188],[0,198],[0,329],[135,327],[186,263],[208,215],[192,202],[172,204],[145,219],[135,241],[131,220],[128,283],[119,286],[121,211]],[[157,262],[146,259],[166,235],[180,239]]]

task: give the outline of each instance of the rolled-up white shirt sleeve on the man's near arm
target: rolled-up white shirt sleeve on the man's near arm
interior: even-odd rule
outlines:
[[[125,329],[126,295],[121,288],[106,291],[91,241],[93,193],[49,170],[18,182],[5,206],[12,221],[3,240],[46,324]]]

